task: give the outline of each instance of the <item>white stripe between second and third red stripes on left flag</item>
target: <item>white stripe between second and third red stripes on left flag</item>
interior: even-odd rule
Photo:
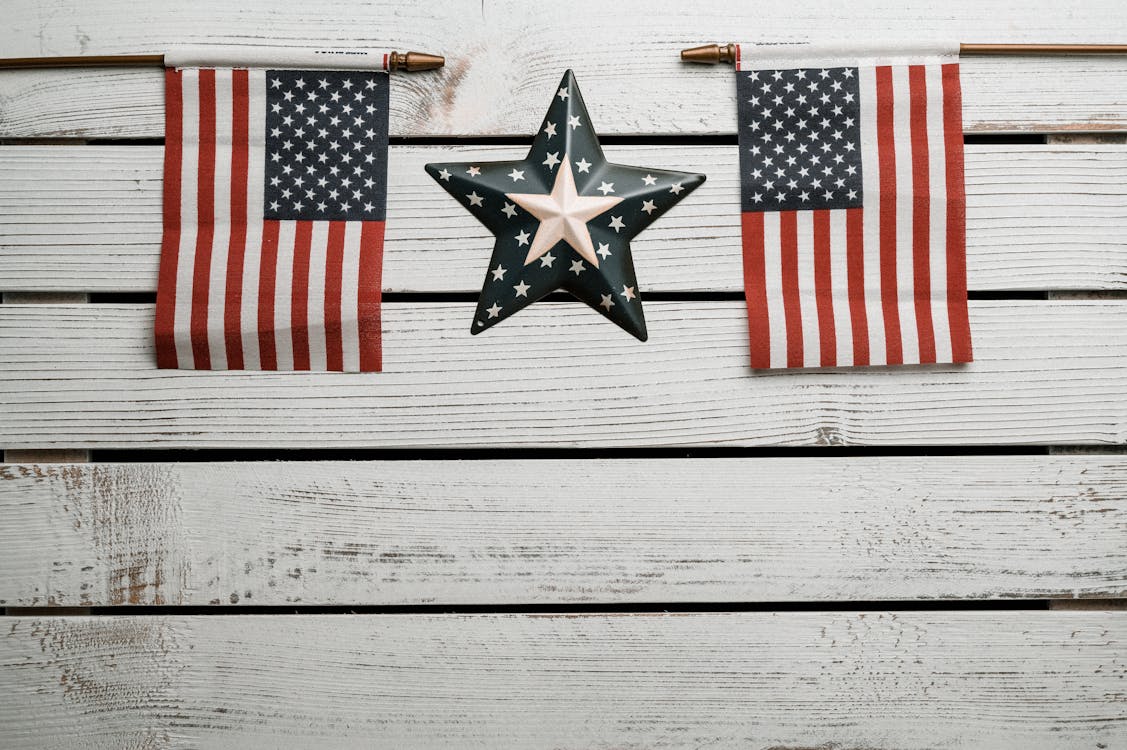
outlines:
[[[231,70],[215,71],[215,228],[207,282],[207,350],[212,370],[227,369],[223,310],[231,244]]]

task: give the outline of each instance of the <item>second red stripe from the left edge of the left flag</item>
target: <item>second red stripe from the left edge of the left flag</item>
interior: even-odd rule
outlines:
[[[196,264],[192,275],[192,355],[197,370],[211,370],[207,347],[207,292],[211,288],[211,254],[215,237],[215,71],[199,71],[199,177],[196,208]]]

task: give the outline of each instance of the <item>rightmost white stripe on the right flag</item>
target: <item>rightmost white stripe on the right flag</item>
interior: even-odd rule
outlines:
[[[926,65],[928,155],[931,226],[931,321],[935,329],[935,361],[951,361],[951,326],[947,311],[947,147],[943,142],[943,68]]]

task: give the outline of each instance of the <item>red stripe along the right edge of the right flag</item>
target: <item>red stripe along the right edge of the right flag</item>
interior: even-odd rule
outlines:
[[[958,63],[943,65],[943,145],[947,151],[947,312],[951,326],[951,359],[970,362],[967,197],[962,184],[962,92]]]

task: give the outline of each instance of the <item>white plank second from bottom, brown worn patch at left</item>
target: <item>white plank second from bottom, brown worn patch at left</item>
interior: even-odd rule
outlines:
[[[1127,456],[0,466],[0,605],[1127,594]]]

